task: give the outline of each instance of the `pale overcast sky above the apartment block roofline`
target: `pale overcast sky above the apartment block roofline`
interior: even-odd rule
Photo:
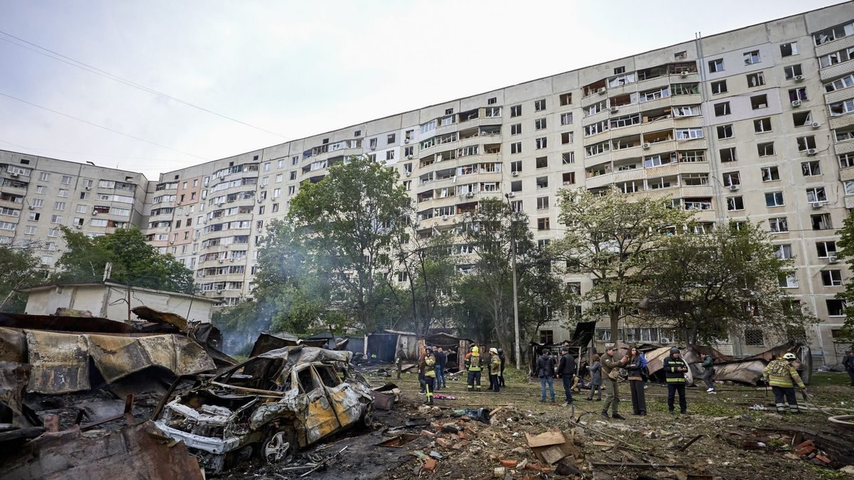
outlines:
[[[6,34],[275,132],[39,55],[33,50],[46,52],[0,33],[0,149],[157,179],[691,40],[695,32],[708,36],[834,3],[0,0]]]

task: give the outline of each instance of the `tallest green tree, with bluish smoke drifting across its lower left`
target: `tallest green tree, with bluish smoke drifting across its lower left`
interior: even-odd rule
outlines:
[[[320,182],[304,185],[284,221],[289,229],[284,245],[299,252],[294,265],[304,271],[299,284],[313,282],[318,290],[297,293],[316,299],[311,306],[342,312],[368,331],[377,327],[377,308],[388,295],[380,291],[383,273],[389,272],[394,240],[409,214],[409,196],[397,180],[395,169],[367,156],[351,157],[330,167]],[[278,247],[266,243],[264,248]],[[274,289],[287,277],[265,277],[264,269],[260,264],[261,288]]]

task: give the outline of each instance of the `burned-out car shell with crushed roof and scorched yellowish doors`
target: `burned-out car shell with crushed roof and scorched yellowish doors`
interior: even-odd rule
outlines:
[[[155,424],[186,443],[208,471],[260,456],[290,460],[307,447],[354,425],[370,426],[373,396],[348,351],[278,348],[213,377],[184,377],[154,413]],[[179,383],[194,386],[176,394]]]

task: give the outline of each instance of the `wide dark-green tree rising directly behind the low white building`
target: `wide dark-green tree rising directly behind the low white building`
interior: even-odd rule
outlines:
[[[193,293],[193,272],[172,255],[162,255],[147,243],[137,228],[118,229],[90,238],[61,227],[66,250],[53,276],[58,282],[101,281],[104,267],[112,263],[110,279],[156,290]]]

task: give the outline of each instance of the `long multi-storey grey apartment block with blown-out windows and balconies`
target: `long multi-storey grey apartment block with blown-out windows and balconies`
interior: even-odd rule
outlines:
[[[854,208],[852,60],[854,3],[842,3],[163,173],[156,182],[98,172],[137,185],[133,211],[141,214],[132,223],[192,268],[205,295],[226,304],[250,295],[266,225],[284,216],[301,184],[320,181],[349,155],[400,171],[423,236],[453,228],[483,198],[508,194],[546,244],[561,235],[559,189],[610,185],[670,197],[697,212],[699,229],[763,221],[779,255],[798,266],[781,286],[822,319],[810,332],[817,361],[835,363],[844,305],[834,296],[849,272],[836,259],[834,231]],[[29,206],[38,195],[38,181],[9,178],[17,168],[39,172],[19,157],[55,169],[68,163],[3,153],[3,208],[21,210],[14,199]],[[69,202],[75,211],[77,198]],[[28,222],[39,221],[20,217],[29,212],[0,214],[7,242],[26,238]],[[81,226],[101,234],[111,224],[90,225]],[[461,271],[471,268],[470,252],[459,245]],[[568,280],[582,291],[590,285]],[[630,342],[668,336],[633,325],[621,332]],[[569,334],[559,325],[540,333],[543,340]],[[607,339],[605,328],[597,333]],[[749,353],[769,342],[746,325],[723,349]]]

